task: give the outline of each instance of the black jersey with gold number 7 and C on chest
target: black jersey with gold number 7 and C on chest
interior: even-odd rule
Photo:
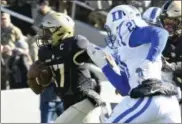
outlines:
[[[55,47],[42,46],[39,49],[39,60],[51,68],[56,92],[66,104],[66,108],[87,98],[88,90],[92,90],[92,93],[89,91],[89,98],[98,95],[96,89],[100,86],[93,80],[85,64],[90,62],[86,52],[88,44],[89,41],[84,36],[78,35],[63,40]]]

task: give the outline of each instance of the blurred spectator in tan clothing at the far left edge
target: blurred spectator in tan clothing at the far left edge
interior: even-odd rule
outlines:
[[[22,42],[23,40],[24,40],[24,37],[21,30],[11,23],[10,15],[8,13],[2,13],[1,14],[1,45],[2,45],[1,47],[3,48],[2,49],[3,51],[2,51],[1,61],[4,62],[3,64],[4,70],[1,70],[1,72],[3,71],[3,75],[5,77],[9,73],[9,70],[8,70],[9,59],[11,58],[13,54],[13,50],[17,49],[16,43]],[[19,48],[18,50],[21,51],[22,53],[25,52],[25,50],[21,48]],[[8,78],[8,81],[9,81],[9,78]],[[7,82],[5,81],[4,84],[6,83]],[[8,84],[6,84],[6,86],[7,85]]]

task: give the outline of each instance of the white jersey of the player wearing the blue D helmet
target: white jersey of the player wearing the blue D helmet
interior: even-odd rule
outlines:
[[[155,78],[160,80],[162,68],[161,56],[159,55],[157,61],[152,63],[153,68],[152,70],[149,70],[150,73],[148,75],[145,75],[146,77],[142,77],[141,79],[140,74],[136,72],[137,68],[146,60],[151,44],[143,44],[137,47],[130,46],[130,35],[132,33],[132,28],[135,28],[135,26],[143,27],[148,26],[148,24],[140,18],[123,22],[118,28],[117,39],[120,40],[120,45],[118,47],[118,52],[115,53],[117,56],[117,63],[120,67],[125,68],[125,73],[127,74],[131,89],[137,87],[143,78]]]

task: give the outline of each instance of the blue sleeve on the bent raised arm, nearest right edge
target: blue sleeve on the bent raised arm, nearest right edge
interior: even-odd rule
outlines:
[[[136,47],[142,44],[151,43],[146,59],[155,61],[162,53],[167,43],[169,33],[162,28],[155,26],[137,27],[131,34],[129,45]]]

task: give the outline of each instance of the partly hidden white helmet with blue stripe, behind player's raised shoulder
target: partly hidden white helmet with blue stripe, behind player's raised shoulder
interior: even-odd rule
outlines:
[[[161,8],[159,7],[149,7],[142,15],[142,18],[149,24],[161,26],[159,19],[161,13]]]

